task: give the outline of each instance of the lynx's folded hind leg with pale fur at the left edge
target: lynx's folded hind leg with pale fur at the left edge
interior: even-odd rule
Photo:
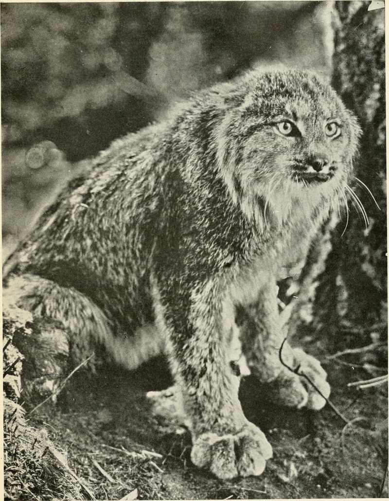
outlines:
[[[132,370],[158,354],[163,346],[162,338],[152,324],[143,326],[133,335],[115,336],[112,323],[87,296],[35,275],[10,278],[4,289],[4,305],[27,310],[33,314],[37,327],[45,325],[41,335],[35,329],[37,352],[41,346],[42,353],[55,353],[56,339],[61,338],[61,350],[67,352],[65,358],[70,368],[89,358],[97,345],[103,345],[110,358]],[[53,328],[57,329],[56,336],[50,335]],[[62,329],[61,336],[58,329]],[[44,335],[45,332],[48,335]],[[22,353],[28,351],[28,341],[22,345]]]

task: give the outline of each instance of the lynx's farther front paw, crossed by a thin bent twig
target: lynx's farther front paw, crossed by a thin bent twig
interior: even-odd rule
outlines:
[[[326,381],[327,373],[318,360],[307,355],[303,350],[294,349],[293,355],[298,370],[295,373],[285,370],[275,381],[278,399],[288,407],[298,409],[306,407],[312,410],[323,408],[326,403],[325,399],[330,393],[330,387]]]

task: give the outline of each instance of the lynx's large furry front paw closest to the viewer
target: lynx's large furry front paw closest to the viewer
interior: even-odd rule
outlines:
[[[237,434],[203,433],[193,444],[191,459],[196,466],[207,467],[223,480],[236,476],[260,475],[272,448],[264,433],[247,422]]]

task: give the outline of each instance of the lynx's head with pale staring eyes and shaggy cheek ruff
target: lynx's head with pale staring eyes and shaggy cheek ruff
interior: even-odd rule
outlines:
[[[282,225],[345,202],[360,128],[333,89],[299,71],[250,73],[225,105],[218,168],[249,219]]]

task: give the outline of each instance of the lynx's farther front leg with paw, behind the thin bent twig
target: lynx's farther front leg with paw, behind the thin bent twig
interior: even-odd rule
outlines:
[[[280,403],[321,409],[330,392],[327,375],[318,360],[284,342],[276,298],[274,283],[263,288],[257,303],[241,313],[242,346],[248,365],[261,381],[272,386]]]

